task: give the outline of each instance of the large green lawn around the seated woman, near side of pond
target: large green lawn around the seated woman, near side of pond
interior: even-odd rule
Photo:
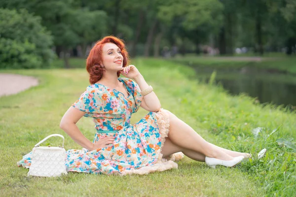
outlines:
[[[82,64],[83,60],[73,60]],[[0,193],[1,196],[294,196],[296,194],[296,114],[281,107],[258,104],[244,95],[229,96],[221,87],[192,80],[192,68],[176,63],[136,59],[133,62],[159,97],[162,107],[190,125],[206,140],[219,146],[251,152],[235,168],[212,169],[184,158],[179,168],[148,175],[125,177],[72,173],[57,178],[27,177],[28,169],[16,162],[45,136],[65,136],[65,148],[81,148],[64,131],[60,120],[88,85],[81,69],[3,70],[35,76],[40,85],[17,95],[0,98]],[[147,112],[132,117],[137,122]],[[77,123],[92,140],[90,118]],[[265,128],[257,137],[252,130]],[[272,133],[274,129],[277,129]],[[182,132],[182,131],[180,131]],[[272,134],[271,134],[272,133]],[[288,146],[276,140],[285,138]],[[49,141],[59,145],[58,139]],[[291,148],[288,148],[291,147]],[[267,155],[256,155],[267,148]]]

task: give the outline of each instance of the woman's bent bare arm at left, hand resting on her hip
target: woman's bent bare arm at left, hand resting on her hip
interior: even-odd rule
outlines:
[[[76,123],[84,114],[85,112],[71,106],[64,114],[60,123],[60,128],[64,130],[77,144],[89,151],[97,148],[104,148],[107,144],[113,143],[113,136],[105,137],[97,143],[92,143],[89,139],[87,139],[76,126]]]

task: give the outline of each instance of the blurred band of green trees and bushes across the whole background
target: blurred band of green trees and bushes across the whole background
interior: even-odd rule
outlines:
[[[232,55],[242,47],[296,54],[295,0],[0,0],[0,8],[1,68],[46,67],[50,48],[71,67],[69,57],[87,56],[110,34],[125,40],[132,57]]]

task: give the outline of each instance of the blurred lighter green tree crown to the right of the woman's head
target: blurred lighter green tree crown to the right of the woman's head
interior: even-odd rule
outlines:
[[[158,18],[169,27],[168,36],[191,40],[196,48],[208,41],[209,35],[219,32],[223,6],[219,0],[168,0],[159,6]],[[198,51],[198,50],[197,50]],[[185,51],[184,51],[185,53]]]

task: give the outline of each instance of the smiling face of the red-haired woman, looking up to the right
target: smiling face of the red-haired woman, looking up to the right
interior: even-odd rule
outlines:
[[[106,43],[103,46],[103,65],[106,70],[118,71],[122,69],[123,56],[116,44]]]

